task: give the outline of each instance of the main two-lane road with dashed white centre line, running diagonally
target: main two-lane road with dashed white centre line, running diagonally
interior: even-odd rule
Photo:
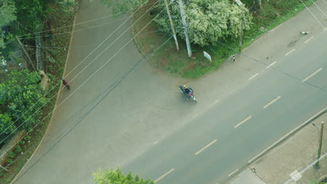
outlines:
[[[319,39],[275,66],[298,79],[323,68],[307,79],[321,89],[267,69],[244,89],[196,116],[123,170],[156,180],[174,169],[158,183],[226,182],[229,174],[326,107],[326,42],[327,34],[321,33]],[[198,151],[201,152],[196,154]]]

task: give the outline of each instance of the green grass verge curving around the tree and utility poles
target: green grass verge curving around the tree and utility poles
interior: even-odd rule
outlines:
[[[152,2],[154,1],[155,0],[152,0]],[[306,6],[312,5],[311,0],[303,0],[303,2]],[[294,17],[301,10],[305,9],[303,3],[298,0],[263,1],[263,8],[259,10],[256,10],[253,4],[246,6],[249,10],[252,10],[254,24],[249,31],[245,31],[242,40],[242,48],[251,45],[256,38],[259,38],[270,29],[273,29],[282,22],[289,20],[289,18]],[[143,8],[140,11],[144,12],[145,10],[147,9]],[[132,22],[135,22],[140,15],[140,13],[136,13]],[[135,36],[138,31],[143,29],[143,27],[150,22],[153,17],[154,16],[150,15],[150,13],[141,17],[140,22],[133,26],[133,35]],[[152,22],[147,26],[147,28],[141,31],[138,36],[136,36],[134,41],[140,49],[140,52],[145,54],[153,51],[166,39],[170,38],[171,33],[167,36],[163,31],[157,30],[159,30],[159,28],[157,28],[157,26]],[[163,70],[173,77],[198,78],[217,70],[221,63],[237,53],[239,47],[238,39],[218,40],[217,45],[208,45],[206,47],[191,45],[193,52],[192,57],[195,59],[190,59],[187,56],[187,49],[184,40],[179,39],[178,43],[180,51],[176,52],[175,41],[173,38],[170,38],[166,45],[163,45],[163,47],[158,49],[157,52],[152,54],[148,62],[155,68]],[[203,56],[203,51],[210,54],[212,62]]]

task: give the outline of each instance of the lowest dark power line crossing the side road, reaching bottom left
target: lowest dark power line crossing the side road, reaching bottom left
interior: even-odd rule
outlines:
[[[143,59],[145,59],[145,61],[147,60],[147,59],[149,59],[150,57],[148,57],[148,56],[152,56],[152,54],[155,54],[163,45],[165,45],[171,38],[173,38],[173,36],[170,36],[170,38],[168,38],[164,43],[162,43],[157,49],[155,49],[152,53],[150,53],[150,52],[148,52],[147,53],[147,56],[143,56],[141,59],[140,59],[140,61],[138,61],[128,72],[126,72],[125,73],[125,75],[112,87],[112,89],[110,89],[110,91],[108,91],[107,93],[106,93],[106,95],[104,95],[98,102],[96,102],[96,105],[94,105],[94,107],[92,107],[92,109],[90,109],[84,116],[82,116],[82,118],[80,118],[80,120],[77,122],[77,123],[75,123],[75,125],[73,125],[73,127],[70,129],[70,130],[68,130],[68,132],[66,132],[66,134],[63,136],[63,137],[61,137],[53,146],[51,146],[51,148],[49,148],[48,149],[48,151],[46,151],[43,155],[41,155],[41,158],[43,158],[45,155],[47,155],[51,150],[52,150],[52,148],[54,148],[54,146],[56,146],[62,139],[64,139],[64,137],[66,137],[66,135],[68,135],[68,133],[69,132],[71,132],[71,130],[73,130],[73,128],[75,128],[76,127],[76,125],[78,125],[78,123],[80,123],[80,121],[82,121],[90,112],[92,112],[93,110],[94,110],[94,108],[95,107],[97,107],[99,104],[100,104],[100,102],[104,99],[104,98],[106,98],[114,89],[116,89],[116,87],[129,75],[129,73],[130,72],[132,72],[135,68],[136,68],[136,66],[138,66],[138,64],[141,62],[141,61],[143,61]],[[157,44],[156,44],[157,45]],[[111,84],[111,86],[112,86],[113,84]],[[111,87],[110,86],[110,87]],[[109,88],[107,88],[107,89],[109,89]],[[107,91],[107,89],[105,90],[105,91]],[[34,165],[36,164],[36,163],[38,163],[40,160],[41,160],[41,158],[38,158],[38,160],[36,160],[36,162],[34,162],[34,164],[32,164],[31,165],[31,167],[34,167]],[[24,173],[21,175],[21,176],[19,176],[15,181],[13,181],[13,183],[15,183],[16,181],[18,181],[22,176],[24,176],[24,174],[26,174],[27,173],[27,171],[29,171],[29,169],[31,169],[31,167],[29,167],[26,171],[24,171]]]

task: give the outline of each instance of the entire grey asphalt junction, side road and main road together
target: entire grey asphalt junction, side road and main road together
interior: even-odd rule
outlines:
[[[324,2],[319,6],[327,10]],[[76,22],[108,15],[99,1],[83,1]],[[324,18],[318,16],[327,26]],[[71,91],[61,91],[43,143],[15,183],[91,183],[99,167],[121,167],[158,183],[224,183],[326,107],[327,36],[307,10],[243,51],[260,63],[237,56],[217,72],[189,81],[167,77],[145,61],[105,96],[101,93],[142,58],[132,41],[111,59],[132,38],[130,31],[119,38],[129,22],[113,33],[123,21],[106,17],[75,26],[83,30],[73,34],[66,66]],[[299,35],[301,29],[310,34]],[[302,82],[310,75],[306,81],[314,86]],[[198,104],[184,100],[179,84],[195,89]]]

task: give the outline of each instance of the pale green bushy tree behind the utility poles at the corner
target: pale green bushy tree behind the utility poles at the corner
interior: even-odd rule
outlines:
[[[170,7],[171,14],[175,17],[174,24],[177,35],[184,38],[179,8],[173,3],[170,4]],[[164,6],[159,4],[156,8],[158,12]],[[242,13],[245,17],[243,31],[249,30],[252,24],[249,10],[245,6],[238,6],[228,0],[189,0],[187,5],[184,4],[184,9],[189,27],[189,39],[191,43],[201,46],[215,45],[214,40],[239,38]],[[162,29],[169,28],[167,15],[161,13],[155,21]]]

